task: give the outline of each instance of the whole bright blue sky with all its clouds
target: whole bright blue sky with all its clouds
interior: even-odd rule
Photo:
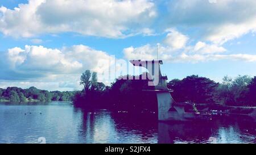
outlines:
[[[169,80],[253,77],[255,8],[254,0],[1,0],[0,87],[81,90],[86,69],[156,59],[157,46]]]

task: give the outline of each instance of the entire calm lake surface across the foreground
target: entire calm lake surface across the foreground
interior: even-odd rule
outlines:
[[[85,112],[64,102],[0,104],[0,143],[255,143],[255,136],[255,122],[235,118],[167,124],[151,116]]]

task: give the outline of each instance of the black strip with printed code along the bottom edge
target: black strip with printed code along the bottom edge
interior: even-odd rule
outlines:
[[[51,153],[53,151],[68,154],[76,152],[80,154],[183,154],[184,152],[219,154],[224,150],[228,150],[229,153],[243,150],[245,154],[246,151],[254,151],[255,146],[255,144],[0,144],[0,149],[6,149],[9,153],[12,150],[26,153],[33,149],[47,154],[49,150]],[[118,148],[123,148],[123,151]]]

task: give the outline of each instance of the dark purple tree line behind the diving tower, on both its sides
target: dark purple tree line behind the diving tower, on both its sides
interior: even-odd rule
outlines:
[[[128,75],[127,75],[128,77]],[[75,106],[82,108],[108,108],[125,111],[157,110],[154,87],[148,80],[115,79],[111,86],[97,82],[97,73],[86,70],[80,84],[84,86],[73,98]],[[228,106],[256,106],[256,77],[225,76],[222,82],[215,82],[196,75],[183,79],[172,79],[167,83],[174,90],[175,102],[220,103]]]

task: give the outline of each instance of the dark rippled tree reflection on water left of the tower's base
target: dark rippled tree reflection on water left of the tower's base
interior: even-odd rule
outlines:
[[[82,111],[80,135],[86,143],[156,143],[157,122],[109,111]]]

